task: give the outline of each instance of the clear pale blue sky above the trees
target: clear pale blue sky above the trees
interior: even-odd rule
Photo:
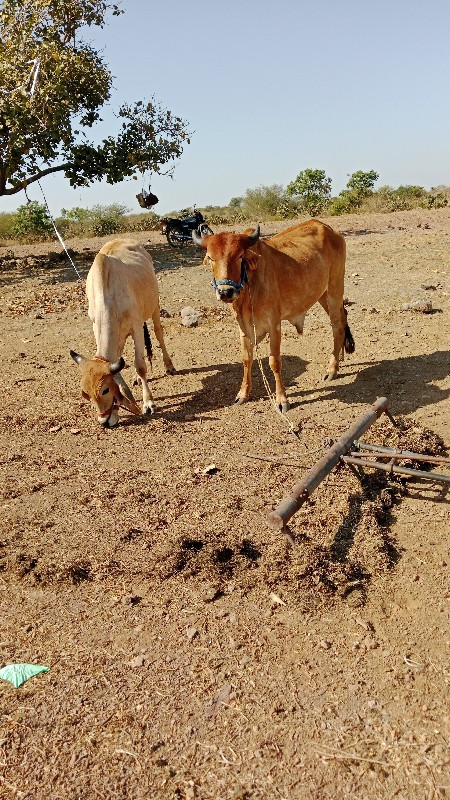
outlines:
[[[125,0],[88,31],[116,77],[111,108],[155,97],[192,141],[174,178],[156,176],[158,213],[226,204],[247,188],[324,169],[333,193],[355,170],[378,185],[450,185],[448,0]],[[105,113],[103,133],[116,121]],[[61,207],[120,202],[141,183],[43,188]],[[30,197],[41,200],[36,185]],[[0,198],[0,211],[24,202]]]

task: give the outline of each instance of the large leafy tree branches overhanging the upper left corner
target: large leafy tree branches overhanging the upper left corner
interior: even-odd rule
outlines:
[[[113,79],[81,32],[103,27],[108,13],[122,12],[110,0],[3,0],[0,196],[54,172],[72,186],[158,172],[189,141],[186,123],[154,100],[124,104],[119,132],[93,141]]]

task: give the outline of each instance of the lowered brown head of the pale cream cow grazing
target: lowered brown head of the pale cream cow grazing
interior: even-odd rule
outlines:
[[[97,419],[105,428],[113,428],[118,422],[119,406],[140,414],[140,408],[125,383],[120,370],[125,366],[122,357],[115,363],[99,358],[84,358],[74,350],[70,351],[73,360],[81,370],[81,394],[90,400],[97,412]]]

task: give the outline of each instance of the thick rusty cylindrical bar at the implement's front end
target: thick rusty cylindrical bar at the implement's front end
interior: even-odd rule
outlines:
[[[274,530],[282,530],[287,521],[295,514],[303,503],[312,495],[314,489],[336,466],[341,456],[351,449],[355,439],[365,433],[371,425],[383,414],[388,407],[386,397],[379,397],[353,425],[347,433],[335,442],[325,455],[307,472],[304,478],[297,483],[291,493],[283,498],[277,507],[269,514],[269,525]],[[359,461],[358,461],[359,463]]]

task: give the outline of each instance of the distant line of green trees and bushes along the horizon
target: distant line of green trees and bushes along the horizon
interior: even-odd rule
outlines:
[[[225,206],[201,209],[212,225],[295,219],[297,217],[362,212],[406,211],[412,208],[442,208],[450,199],[450,188],[427,191],[422,186],[381,186],[375,189],[378,173],[358,170],[349,175],[347,185],[337,196],[331,195],[331,179],[322,169],[305,169],[286,188],[280,184],[247,189],[232,197]],[[182,216],[173,211],[170,216]],[[107,236],[115,233],[155,230],[160,217],[152,211],[130,213],[119,203],[95,205],[91,209],[62,209],[56,219],[60,233],[67,237]],[[38,241],[54,237],[45,205],[32,201],[14,213],[0,213],[0,242]]]

